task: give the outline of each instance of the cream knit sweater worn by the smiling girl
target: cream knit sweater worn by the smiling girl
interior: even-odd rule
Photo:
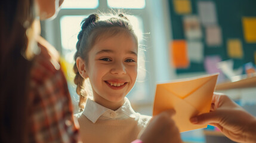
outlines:
[[[136,118],[97,120],[95,123],[82,114],[78,119],[81,139],[84,143],[130,143],[150,120],[149,116],[136,114]]]

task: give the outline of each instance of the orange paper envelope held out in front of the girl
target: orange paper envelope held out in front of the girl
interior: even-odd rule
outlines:
[[[180,132],[206,128],[207,125],[193,125],[189,119],[209,112],[217,78],[218,73],[158,84],[153,116],[166,109],[174,108],[176,114],[172,119]]]

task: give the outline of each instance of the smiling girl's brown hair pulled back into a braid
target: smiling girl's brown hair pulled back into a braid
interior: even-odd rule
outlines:
[[[90,52],[94,43],[103,38],[103,36],[115,36],[118,33],[127,33],[134,38],[138,47],[138,39],[132,29],[132,25],[124,14],[112,15],[111,18],[100,20],[98,14],[91,14],[81,23],[81,31],[78,34],[78,42],[76,43],[76,58],[81,57],[88,64],[88,52]],[[85,88],[85,79],[79,74],[76,63],[73,66],[75,71],[74,82],[77,85],[76,93],[79,95],[79,108],[84,110],[85,101],[87,100],[87,91]]]

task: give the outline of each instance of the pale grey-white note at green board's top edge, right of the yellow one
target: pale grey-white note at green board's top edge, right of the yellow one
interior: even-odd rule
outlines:
[[[217,14],[214,2],[198,1],[198,13],[204,26],[217,24]]]

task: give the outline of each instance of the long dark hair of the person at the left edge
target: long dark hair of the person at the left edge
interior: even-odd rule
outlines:
[[[26,30],[34,0],[0,2],[0,142],[26,142],[28,84],[32,61],[26,58]]]

